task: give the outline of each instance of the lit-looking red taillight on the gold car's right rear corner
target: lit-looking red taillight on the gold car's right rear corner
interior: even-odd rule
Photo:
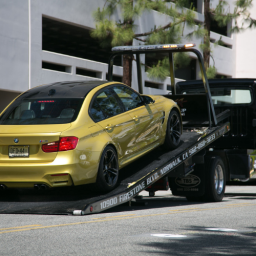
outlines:
[[[77,137],[62,137],[59,141],[50,142],[42,145],[42,150],[46,153],[67,151],[75,149],[78,143]]]

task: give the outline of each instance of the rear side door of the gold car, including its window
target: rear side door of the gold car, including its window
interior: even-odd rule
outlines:
[[[90,116],[111,137],[122,164],[132,153],[128,145],[133,139],[135,124],[111,89],[103,89],[93,97]]]

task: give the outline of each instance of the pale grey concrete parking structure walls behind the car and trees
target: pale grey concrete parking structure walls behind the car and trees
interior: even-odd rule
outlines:
[[[200,2],[198,0],[198,3]],[[29,3],[31,9],[31,45],[29,45]],[[42,50],[43,16],[93,29],[95,23],[92,13],[98,7],[102,7],[104,3],[104,0],[0,0],[0,75],[2,78],[0,90],[12,91],[14,96],[29,88],[29,49],[31,49],[31,87],[56,81],[92,79],[76,75],[76,67],[95,70],[100,74],[99,79],[105,79],[106,64]],[[118,19],[119,15],[116,13],[115,18]],[[196,13],[196,16],[198,21],[203,22],[204,17],[201,13]],[[155,25],[160,26],[170,20],[170,17],[156,11],[146,12],[136,21],[137,32],[150,31]],[[189,31],[191,28],[185,27],[184,34]],[[219,35],[211,33],[211,38],[217,40]],[[192,41],[198,47],[201,40],[194,38]],[[235,66],[235,38],[223,37],[222,40],[232,45],[232,49],[222,46],[214,48],[213,59],[220,74],[232,77],[238,70]],[[183,42],[185,43],[186,40],[184,39]],[[134,44],[136,45],[138,42],[134,40]],[[68,66],[70,67],[69,72],[42,69],[42,61]],[[211,60],[211,64],[213,64],[213,60]],[[135,89],[138,88],[136,72],[134,65],[133,87]],[[114,74],[122,75],[122,68],[115,67]],[[142,78],[143,84],[144,81],[150,81],[145,72],[143,72]],[[167,92],[166,86],[170,85],[170,78],[166,78],[164,81],[155,80],[155,82],[161,84],[160,89],[144,88],[144,93],[163,94]],[[0,91],[0,101],[3,97],[4,94]]]

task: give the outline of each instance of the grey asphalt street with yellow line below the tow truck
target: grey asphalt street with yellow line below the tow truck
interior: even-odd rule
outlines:
[[[0,255],[256,255],[254,186],[228,186],[220,203],[141,195],[87,216],[2,214]]]

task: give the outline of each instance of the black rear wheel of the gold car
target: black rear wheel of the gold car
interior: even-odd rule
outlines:
[[[111,191],[118,181],[118,158],[115,149],[107,146],[100,159],[96,189],[98,191]]]

